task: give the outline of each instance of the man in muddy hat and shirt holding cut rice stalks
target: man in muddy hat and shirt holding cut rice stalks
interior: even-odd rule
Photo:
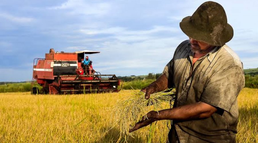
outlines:
[[[243,64],[225,45],[233,37],[223,7],[208,1],[180,28],[189,37],[176,48],[163,75],[146,88],[145,98],[167,88],[176,89],[172,109],[151,111],[130,130],[157,120],[172,120],[170,143],[236,142],[237,96],[245,85]]]

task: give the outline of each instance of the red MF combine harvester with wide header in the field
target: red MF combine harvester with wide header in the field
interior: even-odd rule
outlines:
[[[120,80],[116,75],[101,75],[91,67],[84,69],[84,54],[99,51],[76,51],[65,53],[50,49],[45,59],[35,58],[33,63],[32,94],[80,94],[95,92],[118,92]],[[87,71],[85,71],[87,70]],[[35,86],[42,86],[39,90]]]

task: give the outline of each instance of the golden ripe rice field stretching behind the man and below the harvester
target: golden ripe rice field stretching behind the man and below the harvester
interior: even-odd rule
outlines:
[[[116,142],[110,129],[110,107],[127,91],[85,95],[0,94],[0,142]],[[244,88],[238,97],[237,142],[258,142],[258,89]],[[153,142],[166,142],[167,122],[158,121]],[[128,142],[147,142],[149,126]]]

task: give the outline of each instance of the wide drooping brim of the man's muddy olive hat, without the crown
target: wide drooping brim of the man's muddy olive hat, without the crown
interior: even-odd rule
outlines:
[[[223,46],[226,42],[230,41],[234,35],[233,28],[227,23],[226,28],[217,33],[215,36],[210,32],[202,31],[202,29],[196,28],[190,22],[191,16],[187,16],[180,22],[181,30],[188,36],[195,40],[202,41],[214,46]]]

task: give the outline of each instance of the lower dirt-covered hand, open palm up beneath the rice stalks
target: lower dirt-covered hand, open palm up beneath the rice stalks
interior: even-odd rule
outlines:
[[[149,124],[157,121],[158,116],[159,116],[158,112],[156,112],[156,111],[148,112],[145,116],[142,117],[142,120],[140,120],[138,123],[136,123],[135,126],[129,132],[133,132],[142,127],[148,126]]]

